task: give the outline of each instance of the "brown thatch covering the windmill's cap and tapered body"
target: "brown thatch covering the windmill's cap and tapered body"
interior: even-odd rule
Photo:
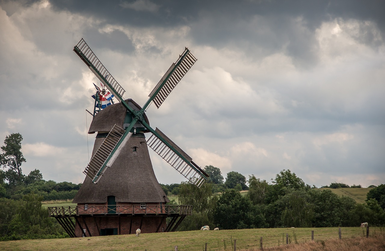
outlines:
[[[122,107],[123,109],[121,109]],[[109,131],[109,126],[123,123],[125,115],[126,109],[120,103],[110,105],[95,115],[91,123],[91,126],[94,127],[92,130],[90,128],[90,131]],[[97,137],[95,139],[92,156],[103,141],[104,138]],[[137,154],[132,151],[133,146],[136,146]],[[155,177],[143,134],[132,136],[127,141],[121,154],[116,158],[114,164],[104,172],[97,184],[85,177],[73,203],[105,203],[107,196],[110,195],[115,196],[116,202],[169,202]]]

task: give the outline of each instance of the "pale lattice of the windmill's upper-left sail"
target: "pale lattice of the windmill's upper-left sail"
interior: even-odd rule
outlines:
[[[109,83],[106,87],[110,90],[115,97],[123,97],[123,94],[126,92],[121,85],[115,80],[115,78],[107,71],[104,65],[100,62],[99,58],[96,57],[94,52],[90,49],[87,43],[82,40],[75,45],[74,52],[79,55],[79,57],[84,61],[84,63],[90,68],[92,72],[99,78],[100,81]],[[117,95],[119,94],[119,95]]]

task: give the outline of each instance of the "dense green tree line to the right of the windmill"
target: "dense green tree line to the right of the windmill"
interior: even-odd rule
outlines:
[[[207,172],[212,166],[206,168]],[[271,183],[249,176],[244,195],[239,186],[213,193],[216,185],[210,180],[200,189],[189,183],[179,186],[179,203],[193,205],[192,215],[184,219],[179,231],[205,225],[221,229],[350,227],[362,222],[385,226],[383,184],[372,188],[363,204],[330,189],[315,189],[290,170],[278,173]]]

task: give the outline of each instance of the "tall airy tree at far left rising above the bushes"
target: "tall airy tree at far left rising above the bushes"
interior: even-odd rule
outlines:
[[[12,185],[19,185],[24,180],[21,165],[26,162],[22,148],[23,137],[20,133],[12,133],[5,137],[4,146],[1,147],[3,151],[0,154],[0,165],[3,168],[8,168],[5,172],[8,183]]]

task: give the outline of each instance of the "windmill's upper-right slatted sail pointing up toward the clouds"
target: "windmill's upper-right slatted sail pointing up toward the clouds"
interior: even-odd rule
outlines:
[[[187,71],[190,70],[196,60],[197,59],[191,54],[189,49],[186,48],[182,55],[179,56],[178,60],[175,63],[172,63],[170,68],[151,91],[150,95],[148,95],[150,100],[154,101],[157,108],[162,105],[163,101],[167,98]]]

